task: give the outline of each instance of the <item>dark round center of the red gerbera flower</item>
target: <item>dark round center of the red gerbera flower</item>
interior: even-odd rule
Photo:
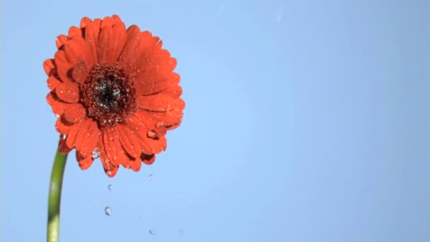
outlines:
[[[100,126],[115,125],[136,108],[136,91],[123,69],[97,64],[81,86],[81,103]]]

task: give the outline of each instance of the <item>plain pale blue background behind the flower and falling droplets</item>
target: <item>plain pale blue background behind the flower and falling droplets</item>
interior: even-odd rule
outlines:
[[[2,1],[1,241],[45,241],[42,62],[112,13],[178,59],[184,119],[139,173],[73,152],[62,241],[430,241],[426,0]]]

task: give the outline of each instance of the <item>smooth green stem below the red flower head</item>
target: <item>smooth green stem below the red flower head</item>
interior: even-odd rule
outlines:
[[[52,166],[50,195],[48,200],[47,242],[59,241],[59,205],[62,199],[62,184],[67,154],[57,151]]]

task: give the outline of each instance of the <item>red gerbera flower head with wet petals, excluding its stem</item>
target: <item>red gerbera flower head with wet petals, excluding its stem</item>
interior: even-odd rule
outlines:
[[[82,18],[57,38],[54,59],[43,63],[47,101],[59,116],[59,151],[76,149],[83,170],[95,152],[113,177],[120,165],[139,171],[165,150],[165,134],[180,125],[185,103],[176,59],[161,45],[116,15]]]

